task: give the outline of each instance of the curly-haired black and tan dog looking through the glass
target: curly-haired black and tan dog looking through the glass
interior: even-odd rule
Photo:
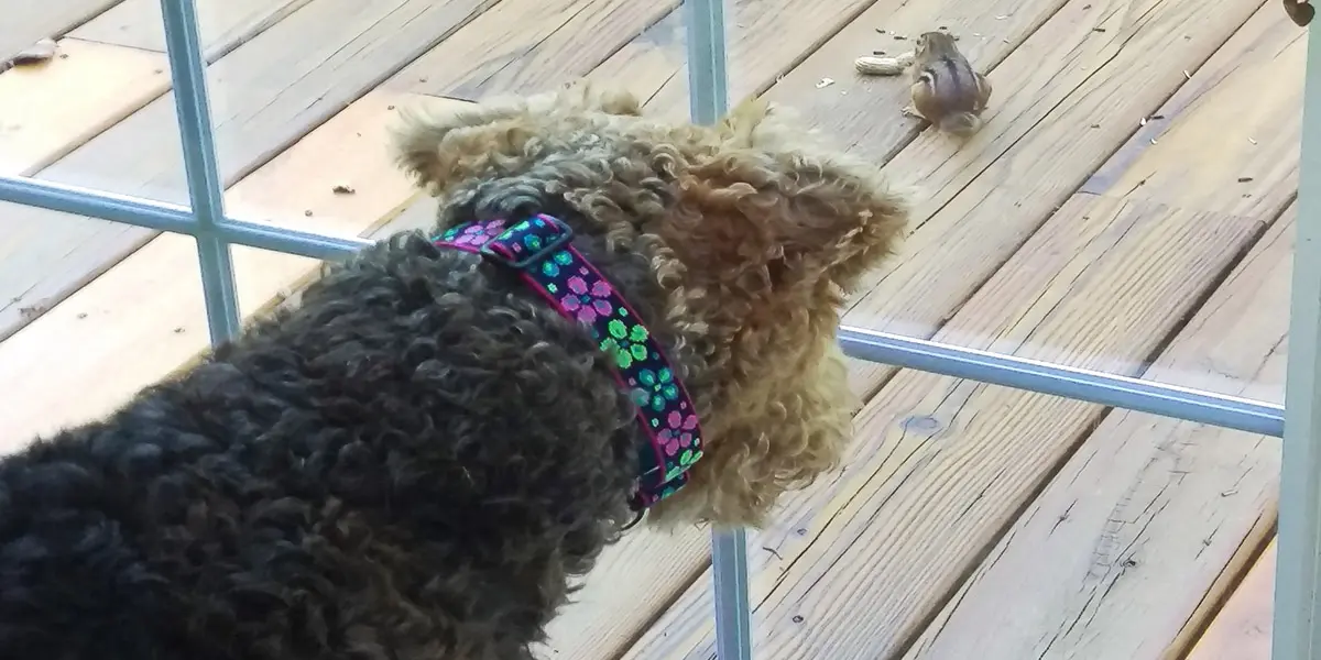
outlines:
[[[649,429],[676,417],[646,417],[647,388],[692,404],[705,454],[649,519],[761,523],[840,459],[839,306],[906,213],[819,143],[758,102],[671,125],[583,84],[411,121],[402,162],[450,244],[328,267],[296,309],[0,462],[0,657],[531,657],[634,520],[657,438],[699,433]],[[605,279],[552,296],[505,248],[454,247],[502,219],[571,228],[576,257],[536,268]],[[588,325],[610,290],[646,333]]]

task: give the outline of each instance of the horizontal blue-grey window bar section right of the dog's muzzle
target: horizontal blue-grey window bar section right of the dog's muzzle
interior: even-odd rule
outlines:
[[[1284,436],[1284,407],[996,352],[840,327],[852,358],[1213,426]]]

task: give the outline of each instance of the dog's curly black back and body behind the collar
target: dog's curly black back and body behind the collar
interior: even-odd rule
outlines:
[[[633,426],[590,338],[468,259],[365,249],[0,458],[0,659],[519,657],[625,519]]]

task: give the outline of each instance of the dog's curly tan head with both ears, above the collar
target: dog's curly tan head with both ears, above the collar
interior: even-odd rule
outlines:
[[[666,298],[666,318],[646,322],[691,362],[705,436],[691,483],[653,521],[760,525],[781,494],[838,465],[856,408],[840,309],[908,214],[877,168],[823,147],[782,107],[663,123],[585,83],[412,117],[399,137],[403,166],[450,206],[567,205],[612,251],[646,257]]]

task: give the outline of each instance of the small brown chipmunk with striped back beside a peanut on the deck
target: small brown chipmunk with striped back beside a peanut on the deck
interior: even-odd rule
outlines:
[[[913,103],[905,115],[919,116],[938,129],[968,137],[982,128],[982,111],[991,82],[972,70],[954,36],[927,32],[917,40],[913,61]]]

